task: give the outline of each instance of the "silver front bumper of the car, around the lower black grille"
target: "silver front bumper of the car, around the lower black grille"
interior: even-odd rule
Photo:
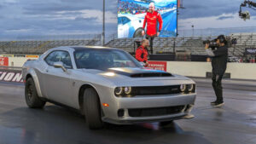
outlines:
[[[196,94],[189,95],[143,95],[132,98],[117,98],[104,107],[102,121],[113,124],[135,124],[143,122],[160,122],[182,119],[189,114],[195,103]],[[111,107],[112,106],[112,107]],[[180,111],[160,115],[131,116],[131,109],[148,109],[160,107],[183,107]],[[119,116],[118,111],[123,110]]]

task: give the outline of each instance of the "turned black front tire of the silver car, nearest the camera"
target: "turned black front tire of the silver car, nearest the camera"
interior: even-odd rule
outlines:
[[[86,124],[91,130],[102,129],[102,108],[95,89],[84,90],[84,113]]]

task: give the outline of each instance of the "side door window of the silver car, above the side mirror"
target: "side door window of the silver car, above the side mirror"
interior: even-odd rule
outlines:
[[[55,62],[61,61],[66,68],[73,68],[71,57],[67,51],[51,52],[44,60],[49,66],[53,66]]]

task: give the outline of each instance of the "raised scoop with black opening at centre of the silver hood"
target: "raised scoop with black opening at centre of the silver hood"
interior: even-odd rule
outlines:
[[[172,77],[172,74],[169,72],[147,68],[109,68],[108,72],[114,72],[131,78]]]

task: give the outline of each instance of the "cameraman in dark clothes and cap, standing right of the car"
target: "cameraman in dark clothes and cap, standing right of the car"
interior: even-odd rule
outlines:
[[[224,106],[223,101],[223,90],[221,80],[223,78],[224,72],[227,68],[228,61],[228,48],[227,48],[227,40],[224,35],[220,35],[215,39],[216,45],[212,43],[206,44],[207,55],[212,57],[212,87],[215,91],[215,95],[217,97],[216,101],[211,102],[213,107],[222,107]],[[216,50],[211,50],[209,48]]]

